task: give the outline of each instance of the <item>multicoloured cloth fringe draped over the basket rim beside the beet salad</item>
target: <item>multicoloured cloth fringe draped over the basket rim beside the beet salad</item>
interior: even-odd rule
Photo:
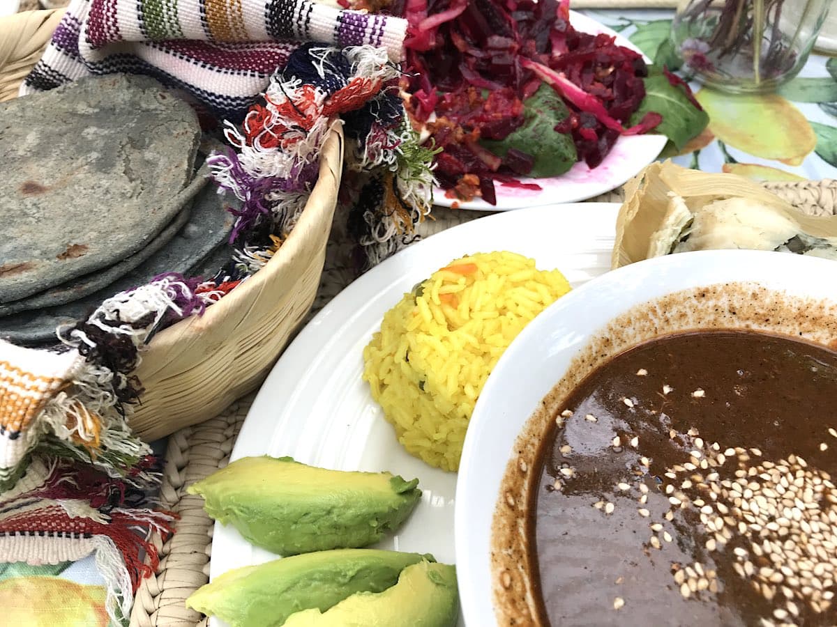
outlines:
[[[246,240],[250,263],[267,262],[290,233],[316,182],[331,120],[345,121],[347,185],[370,176],[388,181],[387,193],[363,210],[343,212],[367,266],[412,241],[414,226],[430,211],[433,150],[419,145],[398,95],[398,67],[372,46],[323,48],[305,44],[288,58],[244,123],[225,122],[234,150],[208,159],[218,186],[240,201],[232,240]],[[354,181],[352,181],[354,179]],[[350,202],[357,204],[357,196]],[[255,232],[271,241],[252,239]]]

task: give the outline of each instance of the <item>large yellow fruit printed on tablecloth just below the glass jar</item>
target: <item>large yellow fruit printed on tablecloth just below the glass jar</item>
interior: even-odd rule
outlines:
[[[698,102],[718,140],[748,155],[798,166],[817,145],[805,116],[777,94],[732,95],[701,89]]]

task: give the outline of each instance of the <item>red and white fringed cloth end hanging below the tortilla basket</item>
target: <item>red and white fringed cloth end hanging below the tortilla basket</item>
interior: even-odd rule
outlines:
[[[146,507],[149,486],[137,478],[36,458],[0,499],[0,561],[55,564],[94,554],[108,588],[105,608],[122,624],[141,579],[159,565],[151,533],[167,538],[174,521]]]

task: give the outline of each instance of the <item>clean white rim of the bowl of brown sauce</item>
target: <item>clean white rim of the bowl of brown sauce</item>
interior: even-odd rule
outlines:
[[[771,293],[787,294],[790,302],[799,303],[799,297],[815,298],[827,301],[829,307],[834,303],[837,308],[835,270],[837,266],[832,261],[783,252],[686,252],[606,273],[568,293],[537,316],[506,349],[491,373],[465,438],[454,529],[457,578],[466,624],[497,624],[490,564],[491,525],[506,464],[512,454],[516,455],[515,451],[520,451],[516,438],[545,395],[567,373],[573,359],[597,334],[603,333],[610,321],[668,294],[719,283],[756,283]],[[665,313],[661,315],[665,317]],[[629,321],[627,317],[624,320]],[[690,324],[694,322],[692,319]],[[759,324],[754,328],[759,328]],[[813,329],[806,331],[805,336],[829,341],[823,339],[824,335],[819,339],[811,337],[817,333]]]

